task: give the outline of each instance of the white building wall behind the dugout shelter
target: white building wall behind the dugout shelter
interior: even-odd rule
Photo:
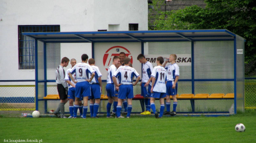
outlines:
[[[109,30],[113,24],[127,31],[129,23],[139,23],[139,30],[147,30],[146,0],[1,0],[0,80],[35,79],[34,69],[18,69],[19,25],[60,25],[61,32],[77,32]],[[71,54],[70,47],[76,52]],[[92,57],[90,43],[61,43],[61,58],[67,56],[80,62],[83,53]],[[17,83],[0,82],[7,84]]]

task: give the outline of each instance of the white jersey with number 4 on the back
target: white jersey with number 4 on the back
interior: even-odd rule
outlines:
[[[133,77],[136,78],[140,76],[138,72],[131,66],[120,66],[116,72],[114,73],[114,76],[118,78],[119,83],[118,84],[133,84]]]

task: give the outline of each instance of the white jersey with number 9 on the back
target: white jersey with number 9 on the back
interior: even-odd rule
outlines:
[[[78,63],[70,69],[70,73],[73,75],[76,73],[76,81],[83,82],[89,80],[89,74],[94,73],[93,68],[87,63]]]

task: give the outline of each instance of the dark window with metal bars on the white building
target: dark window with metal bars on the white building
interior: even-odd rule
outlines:
[[[22,32],[60,32],[60,26],[18,26],[19,69],[35,69],[35,39],[22,35]]]

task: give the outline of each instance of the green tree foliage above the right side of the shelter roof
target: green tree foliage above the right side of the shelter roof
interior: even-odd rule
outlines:
[[[256,1],[205,0],[205,8],[196,5],[161,12],[154,30],[227,29],[246,39],[245,62],[256,60]],[[167,16],[166,16],[167,15]],[[255,66],[252,67],[252,70]]]

